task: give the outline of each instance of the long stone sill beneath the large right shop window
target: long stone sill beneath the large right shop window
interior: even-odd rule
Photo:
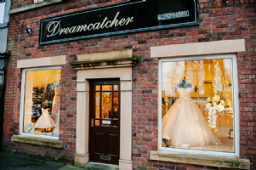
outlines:
[[[150,159],[156,161],[173,161],[178,163],[188,163],[211,167],[250,169],[250,161],[248,159],[240,159],[236,156],[209,156],[202,154],[151,150]]]

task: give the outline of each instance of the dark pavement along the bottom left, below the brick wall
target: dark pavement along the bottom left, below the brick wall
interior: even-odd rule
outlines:
[[[60,162],[43,161],[28,156],[0,152],[0,170],[84,170]]]

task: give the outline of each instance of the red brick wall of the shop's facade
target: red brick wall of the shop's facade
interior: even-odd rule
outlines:
[[[230,1],[230,0],[229,0]],[[153,46],[189,42],[210,42],[229,39],[246,39],[247,51],[237,54],[240,101],[240,156],[256,164],[256,3],[254,0],[235,0],[223,5],[220,0],[201,3],[200,25],[146,31],[111,37],[98,37],[74,42],[61,42],[38,46],[39,20],[85,8],[93,8],[120,1],[67,1],[45,8],[38,8],[14,17],[31,26],[33,14],[34,33],[30,37],[20,33],[11,18],[9,23],[9,59],[5,115],[4,147],[24,155],[41,156],[43,159],[73,161],[76,146],[76,75],[71,65],[61,68],[60,140],[63,149],[22,144],[10,141],[19,134],[21,70],[16,69],[17,59],[33,59],[66,55],[67,61],[76,60],[76,54],[133,48],[134,56],[141,60],[133,71],[133,161],[134,169],[219,169],[165,161],[151,161],[150,150],[157,150],[157,59],[150,58]],[[224,47],[225,48],[225,47]],[[220,168],[224,169],[224,168]],[[253,166],[252,166],[253,169]]]

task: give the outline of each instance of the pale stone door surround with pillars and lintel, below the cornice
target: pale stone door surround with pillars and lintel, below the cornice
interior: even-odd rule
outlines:
[[[77,71],[77,139],[75,166],[89,161],[89,82],[92,79],[120,79],[120,169],[133,169],[132,161],[132,66]]]

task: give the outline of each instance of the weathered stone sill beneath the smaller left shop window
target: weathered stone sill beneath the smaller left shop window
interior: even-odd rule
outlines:
[[[38,144],[44,146],[50,146],[54,148],[63,148],[63,141],[57,139],[47,139],[40,137],[32,137],[26,135],[13,135],[12,141],[14,142],[22,142],[26,144]]]

